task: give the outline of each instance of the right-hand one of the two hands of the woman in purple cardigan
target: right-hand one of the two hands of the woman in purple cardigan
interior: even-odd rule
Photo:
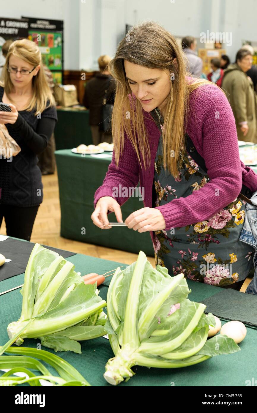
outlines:
[[[133,228],[134,231],[138,232],[164,230],[166,227],[161,211],[148,207],[133,212],[124,222],[128,228]]]

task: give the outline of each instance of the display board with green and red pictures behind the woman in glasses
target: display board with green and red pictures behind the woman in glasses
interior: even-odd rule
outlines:
[[[42,62],[52,72],[55,83],[62,83],[63,76],[63,21],[24,17],[28,20],[28,38],[41,52]]]

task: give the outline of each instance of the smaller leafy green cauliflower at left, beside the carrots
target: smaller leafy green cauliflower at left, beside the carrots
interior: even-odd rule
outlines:
[[[21,316],[7,327],[10,341],[5,349],[27,337],[55,351],[81,353],[78,340],[106,334],[106,301],[98,293],[96,283],[85,285],[71,262],[35,244],[21,290]]]

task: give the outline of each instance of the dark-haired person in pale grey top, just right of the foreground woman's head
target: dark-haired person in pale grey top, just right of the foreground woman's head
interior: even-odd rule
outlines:
[[[202,59],[196,54],[196,40],[193,36],[186,36],[181,41],[183,52],[188,62],[187,70],[193,77],[200,77],[202,74]]]

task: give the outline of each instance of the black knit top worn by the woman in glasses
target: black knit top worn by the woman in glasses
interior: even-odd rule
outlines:
[[[0,102],[4,88],[0,86]],[[55,107],[35,116],[36,110],[19,111],[14,124],[5,126],[21,147],[21,152],[10,159],[0,159],[0,204],[33,207],[43,201],[43,185],[37,154],[47,146],[57,121]]]

